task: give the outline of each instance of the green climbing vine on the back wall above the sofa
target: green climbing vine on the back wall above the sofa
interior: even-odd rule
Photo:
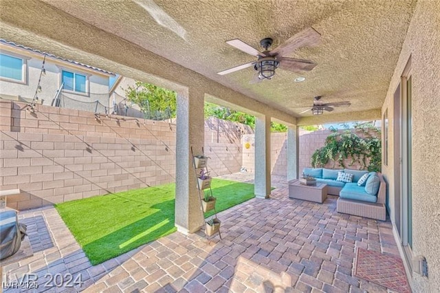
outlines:
[[[362,136],[358,133],[362,133]],[[347,160],[349,160],[348,166],[346,166]],[[333,129],[333,133],[326,138],[325,145],[311,155],[311,166],[318,168],[332,162],[333,168],[336,163],[342,168],[359,164],[363,170],[380,172],[382,167],[380,130],[359,125],[354,131],[345,130],[342,133]]]

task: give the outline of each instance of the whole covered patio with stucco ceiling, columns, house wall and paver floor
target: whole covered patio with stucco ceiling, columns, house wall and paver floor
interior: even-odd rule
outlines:
[[[440,160],[438,1],[0,5],[2,39],[172,89],[178,117],[178,232],[92,267],[54,208],[23,211],[36,252],[5,270],[41,278],[47,272],[80,274],[83,287],[63,288],[71,291],[385,292],[353,276],[355,249],[366,248],[401,257],[415,292],[440,287],[440,165],[434,164]],[[249,83],[252,68],[217,74],[254,60],[225,41],[259,47],[270,36],[275,48],[309,28],[320,41],[298,45],[289,57],[313,61],[313,70],[280,67],[271,80],[256,84]],[[305,80],[297,83],[298,77]],[[306,111],[314,96],[351,106]],[[211,243],[198,232],[203,219],[191,154],[191,148],[195,154],[203,148],[205,100],[256,117],[256,198],[219,214],[223,240]],[[287,197],[286,182],[300,173],[298,127],[353,120],[387,123],[382,173],[388,221],[336,213],[333,196],[323,204]],[[287,174],[281,180],[271,176],[272,121],[288,127]],[[278,186],[274,191],[271,181]]]

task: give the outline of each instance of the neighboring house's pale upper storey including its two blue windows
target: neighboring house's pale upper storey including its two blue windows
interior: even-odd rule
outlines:
[[[51,105],[63,85],[61,107],[102,113],[109,109],[112,76],[103,69],[0,39],[0,98],[30,102],[36,94],[36,102]]]

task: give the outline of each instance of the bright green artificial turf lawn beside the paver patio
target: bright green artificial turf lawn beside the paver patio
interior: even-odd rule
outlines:
[[[211,188],[217,213],[255,196],[253,184],[213,179]],[[174,183],[56,205],[93,265],[175,232],[174,208]]]

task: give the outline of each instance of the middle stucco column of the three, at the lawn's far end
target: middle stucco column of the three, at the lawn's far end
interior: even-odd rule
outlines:
[[[270,117],[255,119],[255,196],[270,197]]]

